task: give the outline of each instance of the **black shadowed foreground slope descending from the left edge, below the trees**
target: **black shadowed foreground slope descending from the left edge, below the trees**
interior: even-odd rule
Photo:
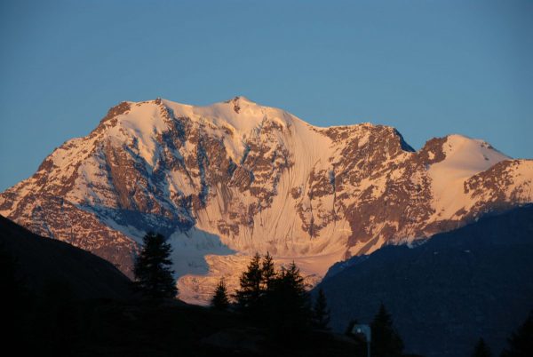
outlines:
[[[145,300],[131,295],[130,283],[107,261],[0,217],[2,355],[361,355],[347,337],[306,330],[280,343],[264,321]]]

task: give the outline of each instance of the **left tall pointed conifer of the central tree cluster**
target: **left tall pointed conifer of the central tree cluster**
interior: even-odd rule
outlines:
[[[235,291],[237,305],[244,311],[256,311],[259,308],[261,298],[261,256],[256,253],[248,265],[248,268],[240,278],[240,289]]]

